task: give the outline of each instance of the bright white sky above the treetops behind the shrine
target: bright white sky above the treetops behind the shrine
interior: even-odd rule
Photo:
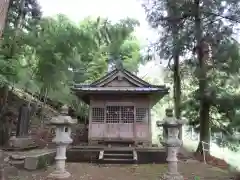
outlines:
[[[63,13],[75,22],[87,16],[107,17],[115,22],[126,17],[135,18],[140,22],[136,29],[138,38],[143,42],[153,38],[140,0],[39,0],[39,3],[45,16]]]

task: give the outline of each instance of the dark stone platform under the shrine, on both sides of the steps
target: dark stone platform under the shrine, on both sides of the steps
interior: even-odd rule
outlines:
[[[99,162],[99,153],[102,150],[130,151],[137,153],[137,164],[165,164],[166,150],[159,147],[105,147],[105,146],[73,146],[67,150],[68,162]]]

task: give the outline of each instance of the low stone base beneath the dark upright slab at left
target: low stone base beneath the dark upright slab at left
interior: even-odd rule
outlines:
[[[11,137],[5,150],[29,150],[37,148],[35,141],[31,137]]]

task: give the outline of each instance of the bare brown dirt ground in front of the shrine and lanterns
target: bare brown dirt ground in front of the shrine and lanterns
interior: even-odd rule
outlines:
[[[53,170],[53,166],[45,171],[19,171],[18,176],[9,180],[45,180]],[[97,165],[88,163],[69,163],[67,170],[72,174],[68,180],[157,180],[167,170],[166,164],[148,165]],[[179,172],[185,179],[194,180],[228,180],[230,175],[223,170],[200,162],[179,162]]]

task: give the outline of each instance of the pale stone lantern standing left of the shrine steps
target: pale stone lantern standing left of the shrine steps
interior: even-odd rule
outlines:
[[[55,157],[56,169],[48,176],[50,179],[64,179],[70,177],[70,173],[65,169],[66,149],[67,146],[72,143],[71,125],[76,123],[76,119],[72,119],[68,116],[67,106],[63,106],[61,108],[61,114],[57,117],[53,117],[50,121],[50,124],[56,127],[56,136],[52,141],[57,145]]]

